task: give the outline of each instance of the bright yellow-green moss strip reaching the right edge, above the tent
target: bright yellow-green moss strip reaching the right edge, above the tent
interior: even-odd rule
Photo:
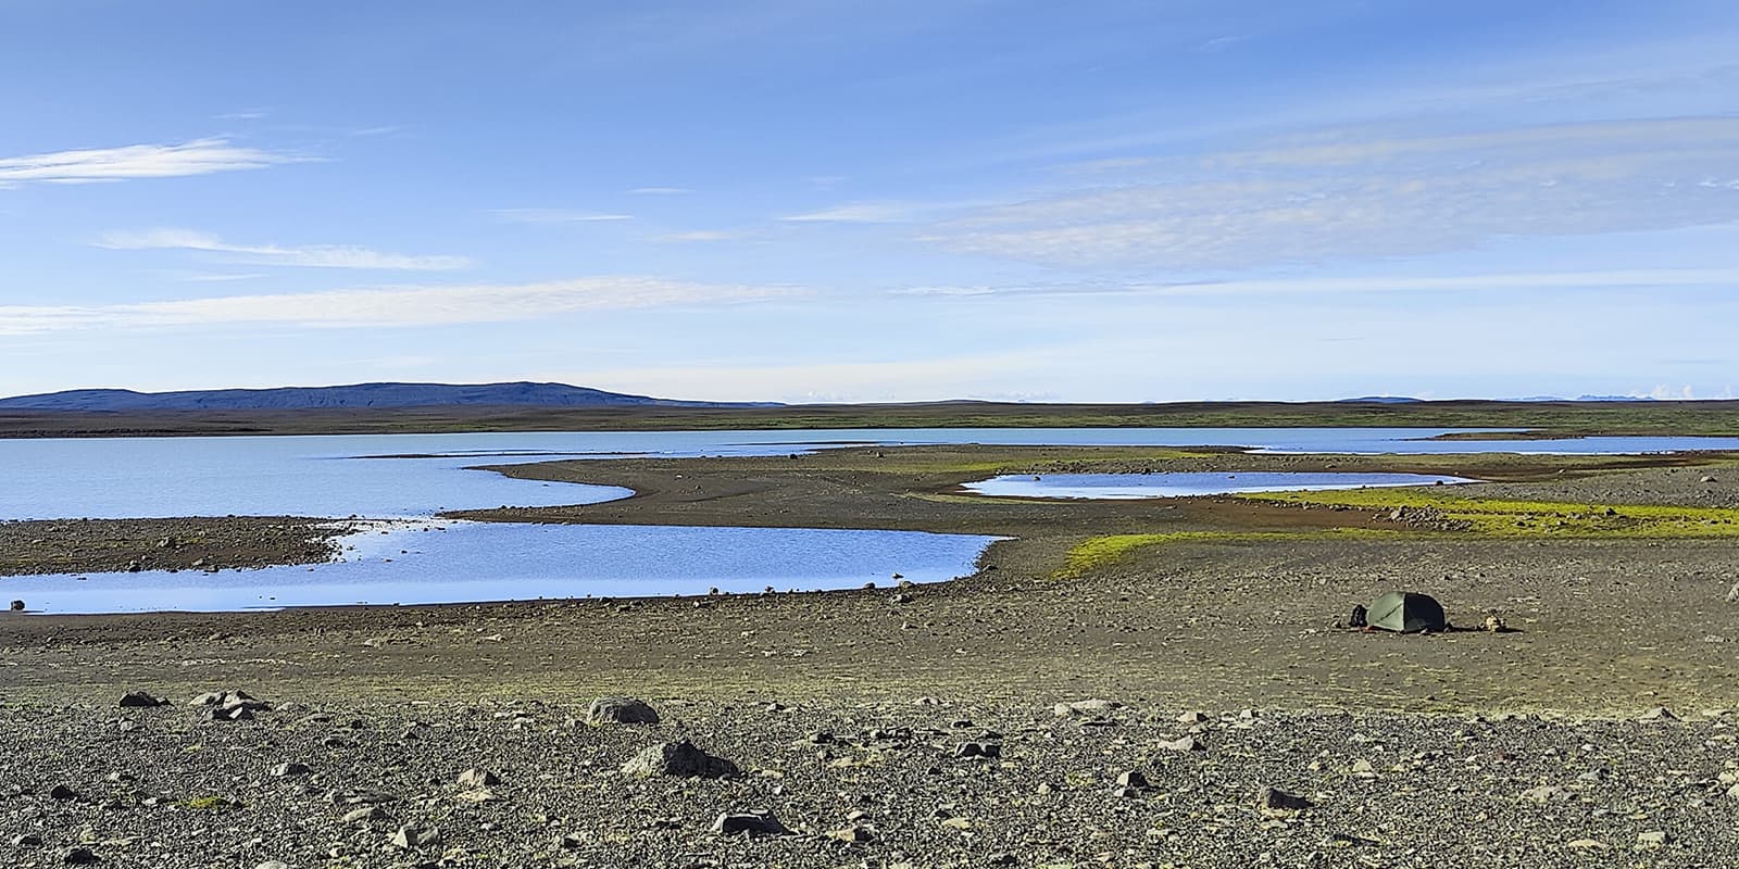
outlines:
[[[1466,499],[1423,488],[1256,492],[1238,497],[1372,511],[1426,511],[1449,527],[1485,537],[1739,537],[1739,509],[1729,507]]]

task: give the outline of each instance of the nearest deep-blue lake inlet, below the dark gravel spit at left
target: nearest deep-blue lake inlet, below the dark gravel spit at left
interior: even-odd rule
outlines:
[[[344,561],[261,570],[3,577],[31,612],[235,612],[351,603],[758,593],[972,572],[995,537],[819,528],[421,521],[346,539]]]

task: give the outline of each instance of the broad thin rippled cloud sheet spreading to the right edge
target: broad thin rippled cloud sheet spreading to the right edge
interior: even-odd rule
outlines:
[[[1739,219],[1739,118],[1454,136],[1294,137],[1195,160],[1118,160],[1101,184],[983,209],[927,238],[1075,268],[1247,268],[1436,254],[1502,236]],[[1122,177],[1122,186],[1104,186]]]

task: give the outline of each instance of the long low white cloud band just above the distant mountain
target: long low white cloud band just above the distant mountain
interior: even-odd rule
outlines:
[[[624,276],[543,283],[224,295],[139,304],[0,306],[0,335],[92,328],[238,325],[353,328],[501,323],[579,311],[751,302],[803,292],[798,287],[683,283]]]

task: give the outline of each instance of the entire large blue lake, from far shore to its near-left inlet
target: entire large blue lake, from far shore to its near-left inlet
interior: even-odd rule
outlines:
[[[1223,445],[1330,454],[1739,450],[1739,438],[1424,440],[1449,431],[1466,429],[809,429],[0,440],[0,520],[224,514],[379,520],[496,506],[590,504],[630,492],[511,480],[468,468],[633,455],[781,455],[842,445]],[[896,570],[913,579],[965,575],[989,542],[963,535],[802,528],[471,523],[447,523],[447,528],[356,535],[348,542],[362,554],[313,568],[90,574],[83,580],[9,577],[0,579],[0,589],[26,598],[38,612],[129,612],[694,594],[711,586],[727,591],[767,584],[849,587]],[[424,537],[416,537],[419,534]],[[423,549],[391,541],[417,541]],[[409,553],[376,553],[379,547],[396,553],[395,546]]]

